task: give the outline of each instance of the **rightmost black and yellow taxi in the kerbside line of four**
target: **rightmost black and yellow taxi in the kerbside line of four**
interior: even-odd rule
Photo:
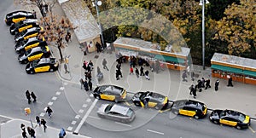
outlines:
[[[225,124],[236,129],[246,129],[250,126],[251,119],[249,116],[233,110],[213,110],[210,121],[214,124]]]

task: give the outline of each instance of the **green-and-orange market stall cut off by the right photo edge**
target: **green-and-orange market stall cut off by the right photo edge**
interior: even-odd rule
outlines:
[[[211,60],[212,77],[256,84],[256,60],[215,53]]]

